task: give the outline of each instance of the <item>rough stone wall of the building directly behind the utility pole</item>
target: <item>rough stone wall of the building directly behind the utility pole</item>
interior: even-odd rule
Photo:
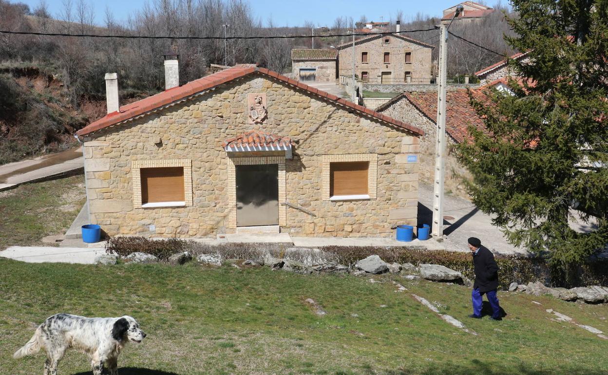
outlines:
[[[381,111],[382,114],[394,119],[410,123],[424,130],[424,137],[420,137],[420,181],[433,184],[435,180],[435,139],[437,128],[423,113],[418,111],[407,98],[393,103],[389,108]],[[447,157],[444,189],[446,193],[469,198],[462,179],[471,179],[471,174],[463,167],[454,155],[454,139],[447,134]]]

